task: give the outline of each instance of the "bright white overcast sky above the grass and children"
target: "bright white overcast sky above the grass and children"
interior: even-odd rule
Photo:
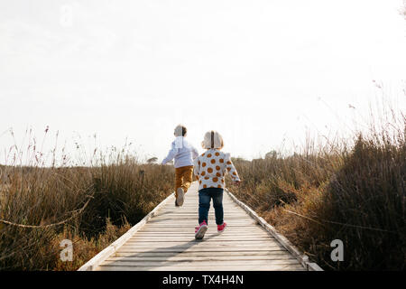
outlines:
[[[345,130],[383,94],[406,111],[402,5],[2,1],[0,163],[10,127],[21,145],[27,128],[42,140],[50,126],[45,151],[60,131],[60,143],[80,135],[88,146],[94,134],[102,147],[128,138],[161,160],[182,123],[200,152],[215,129],[226,152],[252,158],[302,142],[308,129]]]

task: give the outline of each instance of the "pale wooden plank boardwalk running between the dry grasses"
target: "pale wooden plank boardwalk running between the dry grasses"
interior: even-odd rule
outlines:
[[[208,231],[202,240],[194,238],[198,225],[198,183],[192,183],[182,207],[175,207],[174,200],[172,194],[79,270],[320,270],[226,191],[223,200],[226,231],[217,233],[211,204]]]

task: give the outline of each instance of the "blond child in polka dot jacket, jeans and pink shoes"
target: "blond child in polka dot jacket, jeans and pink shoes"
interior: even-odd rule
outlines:
[[[223,148],[223,137],[216,131],[207,132],[202,142],[207,149],[194,161],[194,174],[198,179],[198,227],[195,228],[195,238],[201,239],[208,230],[208,210],[210,200],[213,199],[217,231],[223,232],[226,228],[223,210],[223,191],[225,188],[224,177],[228,172],[235,184],[240,183],[240,178],[231,162],[230,154],[220,150]]]

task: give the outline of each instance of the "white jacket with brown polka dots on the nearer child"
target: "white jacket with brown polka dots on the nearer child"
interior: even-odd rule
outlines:
[[[194,162],[194,170],[198,179],[198,190],[205,188],[226,187],[224,177],[228,172],[233,181],[240,181],[230,154],[225,154],[217,149],[209,149],[199,155]]]

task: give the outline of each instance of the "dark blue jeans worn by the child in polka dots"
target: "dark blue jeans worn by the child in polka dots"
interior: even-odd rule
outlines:
[[[208,210],[210,209],[210,200],[213,199],[215,209],[216,224],[223,224],[223,189],[207,188],[198,191],[198,223],[204,220],[208,223]]]

